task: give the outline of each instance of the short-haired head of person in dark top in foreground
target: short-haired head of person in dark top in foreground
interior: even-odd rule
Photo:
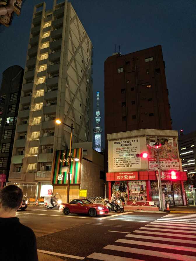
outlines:
[[[0,191],[0,202],[4,209],[18,209],[22,199],[22,189],[15,185],[6,186]]]

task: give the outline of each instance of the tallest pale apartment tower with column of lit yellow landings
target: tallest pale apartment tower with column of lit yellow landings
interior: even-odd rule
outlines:
[[[92,141],[92,43],[67,0],[34,7],[9,182],[27,197],[51,185],[53,154]],[[46,186],[44,186],[46,185]]]

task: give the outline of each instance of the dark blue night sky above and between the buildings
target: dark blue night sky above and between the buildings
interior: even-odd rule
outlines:
[[[12,25],[0,27],[0,82],[9,66],[24,68],[33,7],[41,0],[26,0]],[[46,0],[51,9],[52,0]],[[59,1],[61,2],[61,1]],[[94,46],[94,113],[100,91],[104,127],[104,61],[120,45],[122,54],[162,45],[173,130],[196,130],[196,1],[195,0],[72,0]],[[95,125],[95,123],[94,123]],[[104,136],[102,135],[102,141]],[[103,145],[103,143],[102,143]]]

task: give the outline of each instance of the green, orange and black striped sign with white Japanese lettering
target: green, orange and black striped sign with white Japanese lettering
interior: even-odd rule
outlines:
[[[70,184],[78,184],[81,181],[82,148],[72,149]],[[79,158],[75,161],[74,158]],[[67,166],[67,168],[66,168]],[[57,150],[53,161],[52,184],[66,184],[69,169],[69,149]]]

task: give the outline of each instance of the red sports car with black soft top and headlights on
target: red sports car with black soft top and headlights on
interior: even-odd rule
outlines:
[[[88,199],[74,199],[69,203],[62,203],[59,210],[65,215],[69,213],[89,214],[91,217],[108,214],[109,212],[108,207],[102,204],[93,204]]]

